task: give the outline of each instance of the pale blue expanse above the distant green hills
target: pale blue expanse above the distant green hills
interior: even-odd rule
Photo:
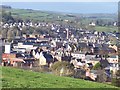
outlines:
[[[117,13],[118,0],[2,0],[16,9],[66,13]]]

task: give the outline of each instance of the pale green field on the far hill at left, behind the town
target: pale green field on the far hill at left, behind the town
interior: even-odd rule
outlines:
[[[31,9],[5,9],[11,12],[13,17],[22,18],[23,20],[31,19],[35,21],[54,21],[58,19],[58,16],[64,17],[64,15],[55,12],[39,11]]]

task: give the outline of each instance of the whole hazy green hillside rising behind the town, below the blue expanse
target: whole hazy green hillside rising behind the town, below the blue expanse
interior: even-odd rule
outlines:
[[[40,11],[32,9],[14,9],[14,8],[2,8],[0,16],[4,12],[10,12],[11,16],[16,20],[32,22],[47,22],[56,23],[62,25],[71,25],[77,28],[87,28],[89,30],[113,32],[118,31],[117,27],[111,26],[113,22],[117,21],[116,14],[68,14],[52,11]],[[3,17],[3,16],[2,16]],[[66,22],[65,20],[69,20]],[[4,20],[3,20],[4,21]],[[95,27],[88,27],[90,22],[97,22]],[[102,26],[103,25],[103,26]],[[106,26],[108,25],[108,26]],[[110,26],[109,26],[110,25]]]

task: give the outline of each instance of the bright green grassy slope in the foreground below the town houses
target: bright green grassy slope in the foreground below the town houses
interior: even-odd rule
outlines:
[[[116,88],[69,77],[2,67],[2,88]]]

